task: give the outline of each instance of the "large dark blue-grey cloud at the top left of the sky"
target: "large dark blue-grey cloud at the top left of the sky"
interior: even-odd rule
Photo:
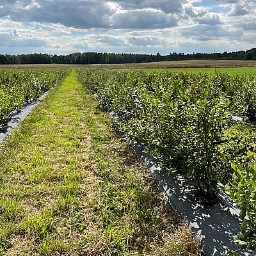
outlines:
[[[10,15],[14,21],[60,23],[74,28],[108,28],[113,14],[109,6],[95,1],[38,0],[32,5],[31,1],[20,2],[23,5],[5,4],[0,17]]]

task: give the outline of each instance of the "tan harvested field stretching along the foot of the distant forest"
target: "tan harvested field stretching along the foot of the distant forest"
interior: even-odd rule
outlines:
[[[217,68],[217,67],[256,67],[256,61],[241,60],[188,60],[188,61],[161,61],[150,63],[127,63],[127,64],[92,64],[92,65],[65,65],[65,64],[42,64],[42,65],[0,65],[0,68],[60,68],[60,67],[85,67],[85,68]]]

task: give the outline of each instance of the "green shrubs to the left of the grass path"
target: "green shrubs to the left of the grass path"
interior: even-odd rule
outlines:
[[[68,74],[67,69],[0,70],[0,125]]]

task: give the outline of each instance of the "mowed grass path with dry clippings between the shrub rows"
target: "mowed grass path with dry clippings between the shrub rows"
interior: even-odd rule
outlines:
[[[73,70],[0,145],[0,255],[201,255]]]

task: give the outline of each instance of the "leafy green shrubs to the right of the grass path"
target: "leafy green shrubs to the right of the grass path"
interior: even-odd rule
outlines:
[[[234,173],[230,163],[235,170],[239,165],[243,173],[251,173],[248,177],[254,175],[253,168],[246,168],[255,161],[252,136],[230,129],[233,115],[255,119],[255,77],[90,69],[77,69],[77,76],[100,106],[113,112],[115,129],[146,145],[170,171],[184,173],[195,184],[198,198],[212,203],[218,184],[227,184],[225,189],[242,207],[241,218],[244,212],[255,217],[256,197],[238,197],[242,192],[236,186],[237,172],[235,183],[228,185]],[[255,189],[256,180],[249,180],[253,182],[247,185]],[[248,232],[256,230],[254,220],[243,222],[241,248],[255,245],[255,233]]]

